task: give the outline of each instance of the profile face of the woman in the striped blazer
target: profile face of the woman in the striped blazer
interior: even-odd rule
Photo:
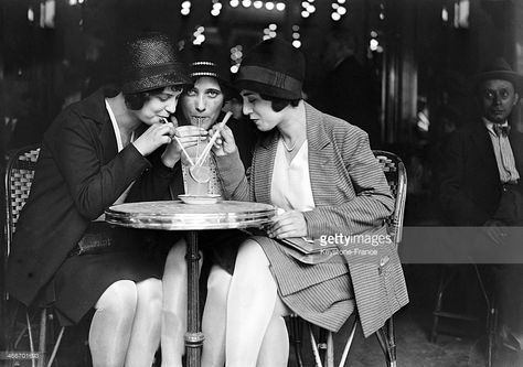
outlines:
[[[244,115],[256,125],[259,131],[273,130],[281,122],[281,112],[273,109],[270,100],[263,99],[258,93],[250,90],[242,90],[241,95],[244,100]]]

